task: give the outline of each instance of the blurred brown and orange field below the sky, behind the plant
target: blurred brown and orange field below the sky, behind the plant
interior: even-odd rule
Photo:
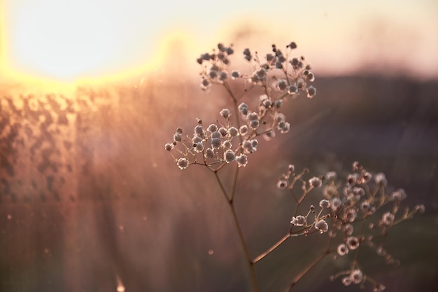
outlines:
[[[164,151],[176,127],[190,132],[195,118],[213,123],[226,99],[175,79],[73,95],[1,89],[0,291],[116,291],[120,284],[127,292],[248,291],[213,176],[192,166],[179,171]],[[438,82],[345,76],[315,85],[314,99],[286,104],[291,132],[262,142],[241,172],[236,209],[250,253],[289,228],[292,200],[275,188],[289,163],[344,176],[358,160],[384,172],[390,188],[404,188],[406,205],[426,206],[390,232],[389,250],[402,265],[374,256],[364,268],[387,291],[436,291]],[[318,256],[318,236],[315,244],[306,239],[256,265],[261,291],[282,289]],[[358,291],[328,280],[341,269],[327,258],[295,291]]]

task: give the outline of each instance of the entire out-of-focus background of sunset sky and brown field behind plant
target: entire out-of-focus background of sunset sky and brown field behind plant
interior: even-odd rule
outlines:
[[[344,177],[358,160],[404,188],[405,206],[426,207],[390,232],[400,267],[372,255],[364,270],[388,291],[436,290],[436,1],[0,7],[0,291],[249,291],[214,177],[180,171],[164,144],[227,106],[219,88],[199,89],[200,54],[233,43],[232,62],[246,68],[243,48],[290,41],[318,93],[285,104],[291,131],[262,141],[241,171],[250,253],[288,231],[292,201],[275,188],[288,164]],[[260,291],[282,291],[319,244],[289,241],[257,263]],[[295,291],[359,291],[328,280],[344,264],[323,260]]]

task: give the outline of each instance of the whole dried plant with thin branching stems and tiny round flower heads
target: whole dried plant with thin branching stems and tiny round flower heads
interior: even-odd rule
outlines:
[[[348,269],[331,275],[330,279],[341,278],[346,286],[357,284],[362,288],[369,285],[372,291],[383,291],[385,286],[362,269],[358,253],[362,246],[368,246],[385,258],[386,263],[398,265],[398,260],[384,249],[384,239],[390,228],[424,212],[424,206],[400,212],[400,204],[406,197],[404,190],[400,188],[387,193],[385,175],[367,172],[359,162],[353,162],[352,172],[345,179],[339,179],[335,172],[306,178],[309,169],[295,172],[295,166],[289,165],[276,182],[276,187],[289,192],[295,200],[290,229],[263,253],[253,256],[248,251],[248,242],[234,208],[239,169],[251,165],[250,155],[259,148],[260,138],[269,141],[276,133],[289,132],[290,123],[281,111],[285,102],[302,94],[309,99],[316,95],[316,88],[311,85],[315,76],[310,65],[304,57],[291,56],[295,48],[297,45],[293,42],[284,50],[273,45],[271,53],[263,57],[246,48],[243,57],[250,64],[249,73],[230,69],[233,46],[219,43],[212,53],[202,54],[197,59],[202,66],[202,90],[209,91],[213,86],[225,88],[232,106],[221,109],[220,118],[208,126],[198,119],[193,132],[188,134],[178,127],[173,141],[165,144],[164,148],[171,153],[180,169],[201,166],[216,177],[239,235],[253,291],[259,290],[255,265],[260,260],[286,240],[313,233],[327,237],[327,244],[320,256],[292,277],[285,291],[291,291],[313,266],[329,255],[334,259],[348,258],[350,262]],[[243,89],[237,92],[232,83],[243,83]],[[262,94],[251,95],[255,89]],[[225,186],[218,174],[229,167],[234,168],[234,176],[231,186]],[[316,189],[320,189],[321,197],[314,205],[303,208],[304,199]]]

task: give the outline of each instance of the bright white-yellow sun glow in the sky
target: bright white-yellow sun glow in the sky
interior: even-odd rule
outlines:
[[[135,5],[134,5],[135,4]],[[3,78],[20,83],[120,79],[160,66],[164,35],[150,8],[138,1],[3,1]]]

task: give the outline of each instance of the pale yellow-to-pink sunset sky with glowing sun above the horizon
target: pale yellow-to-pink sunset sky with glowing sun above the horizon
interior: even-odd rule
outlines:
[[[438,78],[435,0],[0,3],[3,80],[121,78],[157,69],[176,51],[195,60],[219,41],[260,50],[295,41],[320,74]]]

